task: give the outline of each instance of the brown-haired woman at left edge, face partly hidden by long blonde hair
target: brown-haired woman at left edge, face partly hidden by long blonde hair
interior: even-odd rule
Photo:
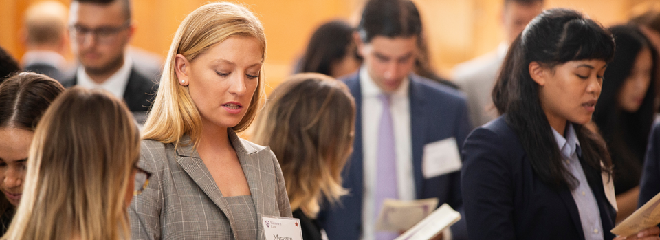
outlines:
[[[9,227],[23,196],[25,166],[34,129],[50,103],[64,91],[56,80],[31,72],[0,84],[0,234]]]

